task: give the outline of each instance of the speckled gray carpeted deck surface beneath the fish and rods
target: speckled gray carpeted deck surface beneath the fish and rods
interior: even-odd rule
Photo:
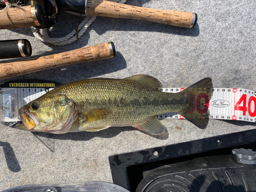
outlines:
[[[113,41],[115,58],[80,63],[1,80],[44,79],[60,83],[93,78],[152,75],[163,87],[188,87],[211,77],[214,87],[256,91],[256,2],[127,0],[148,8],[196,12],[193,29],[142,20],[97,17],[87,32],[67,46],[35,38],[30,28],[0,30],[0,39],[27,38],[33,57]],[[50,32],[61,37],[72,31],[77,16],[59,15]],[[5,59],[0,62],[17,59]],[[65,70],[63,70],[65,69]],[[150,147],[255,129],[256,123],[209,120],[200,130],[187,120],[162,120],[163,136],[152,137],[133,127],[110,127],[94,133],[53,135],[19,131],[0,124],[0,190],[25,184],[112,182],[108,157]]]

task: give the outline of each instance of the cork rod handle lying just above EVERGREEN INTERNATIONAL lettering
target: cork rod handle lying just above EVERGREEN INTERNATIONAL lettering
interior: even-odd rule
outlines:
[[[60,66],[108,59],[114,56],[115,47],[113,42],[104,42],[103,44],[42,56],[35,59],[0,63],[0,80]]]

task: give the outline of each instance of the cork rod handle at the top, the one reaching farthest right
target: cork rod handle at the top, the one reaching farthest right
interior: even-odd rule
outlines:
[[[86,14],[148,20],[185,28],[192,28],[197,22],[196,13],[136,7],[103,0],[87,0]]]

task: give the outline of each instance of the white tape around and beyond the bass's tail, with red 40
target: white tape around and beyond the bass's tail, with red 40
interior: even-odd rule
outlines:
[[[161,91],[178,93],[184,88],[163,88]],[[209,102],[210,119],[256,122],[256,92],[237,88],[214,88]],[[159,119],[185,119],[178,113],[157,115]]]

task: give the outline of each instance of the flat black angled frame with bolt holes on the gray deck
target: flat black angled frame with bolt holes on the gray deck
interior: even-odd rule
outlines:
[[[200,158],[200,157],[231,155],[233,148],[251,148],[251,149],[254,148],[255,149],[256,148],[256,130],[248,130],[248,131],[237,132],[237,133],[232,133],[227,135],[188,141],[184,143],[149,148],[149,149],[137,151],[137,152],[110,156],[109,161],[110,161],[113,182],[117,185],[120,185],[129,189],[130,191],[136,191],[139,183],[145,178],[145,174],[148,173],[147,171],[153,170],[155,168],[159,168],[161,166],[166,166],[169,164],[184,163],[186,161],[191,161],[193,159]],[[254,166],[254,165],[249,165],[249,166]],[[191,169],[189,170],[192,171]],[[247,170],[248,172],[249,171],[252,172],[252,176],[254,179],[253,182],[254,182],[254,185],[256,185],[256,173],[253,172],[255,171],[255,169],[251,169],[251,170],[247,169]],[[229,170],[224,170],[223,172],[224,176],[226,177],[225,171],[228,171],[227,173],[229,173]],[[214,177],[214,175],[212,175],[212,177]],[[225,183],[228,180],[225,180],[223,182]],[[207,184],[207,182],[205,181],[204,184]],[[245,191],[251,192],[251,190],[247,190],[247,189],[245,189]],[[164,190],[164,191],[168,191],[168,190]],[[172,190],[169,190],[169,191],[172,191]],[[209,190],[206,190],[206,191],[212,191],[212,190],[211,188],[209,188]],[[224,191],[224,188],[223,190],[220,190],[220,191]],[[239,191],[239,190],[234,190],[234,191]],[[252,191],[256,191],[256,189],[254,188]]]

